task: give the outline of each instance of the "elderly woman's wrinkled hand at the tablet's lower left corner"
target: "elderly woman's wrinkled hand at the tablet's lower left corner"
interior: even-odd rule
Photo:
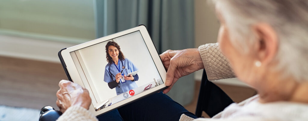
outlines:
[[[59,87],[56,104],[62,113],[67,108],[75,105],[86,108],[87,110],[89,109],[91,98],[87,89],[67,80],[61,80]]]

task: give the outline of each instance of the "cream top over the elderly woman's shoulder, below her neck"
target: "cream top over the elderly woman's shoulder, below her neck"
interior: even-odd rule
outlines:
[[[246,117],[246,120],[251,120],[257,117],[263,120],[267,120],[268,118],[285,119],[279,121],[288,121],[289,119],[294,118],[306,120],[306,115],[308,113],[308,110],[306,109],[308,109],[308,104],[304,103],[289,101],[260,103],[255,99],[248,101],[245,105],[232,103],[226,107],[224,111],[220,112],[219,115],[216,115],[213,118],[222,118],[222,116],[224,116],[223,118],[231,118],[233,120],[239,120],[242,117]]]

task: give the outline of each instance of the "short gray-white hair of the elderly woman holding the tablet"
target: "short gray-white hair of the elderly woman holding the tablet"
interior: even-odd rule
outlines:
[[[255,23],[267,23],[279,39],[277,71],[297,81],[308,80],[307,0],[213,0],[225,19],[233,46],[247,53],[255,43]],[[247,46],[248,45],[248,46]]]

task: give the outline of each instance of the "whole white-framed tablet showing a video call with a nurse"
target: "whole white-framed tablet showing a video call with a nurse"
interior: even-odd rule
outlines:
[[[166,70],[144,25],[62,49],[58,55],[68,79],[89,90],[89,111],[95,116],[166,88]],[[144,71],[123,76],[137,70]]]

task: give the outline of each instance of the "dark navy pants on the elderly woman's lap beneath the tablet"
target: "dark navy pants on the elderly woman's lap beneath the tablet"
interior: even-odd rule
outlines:
[[[197,118],[162,92],[98,116],[100,121],[178,121],[185,114]]]

